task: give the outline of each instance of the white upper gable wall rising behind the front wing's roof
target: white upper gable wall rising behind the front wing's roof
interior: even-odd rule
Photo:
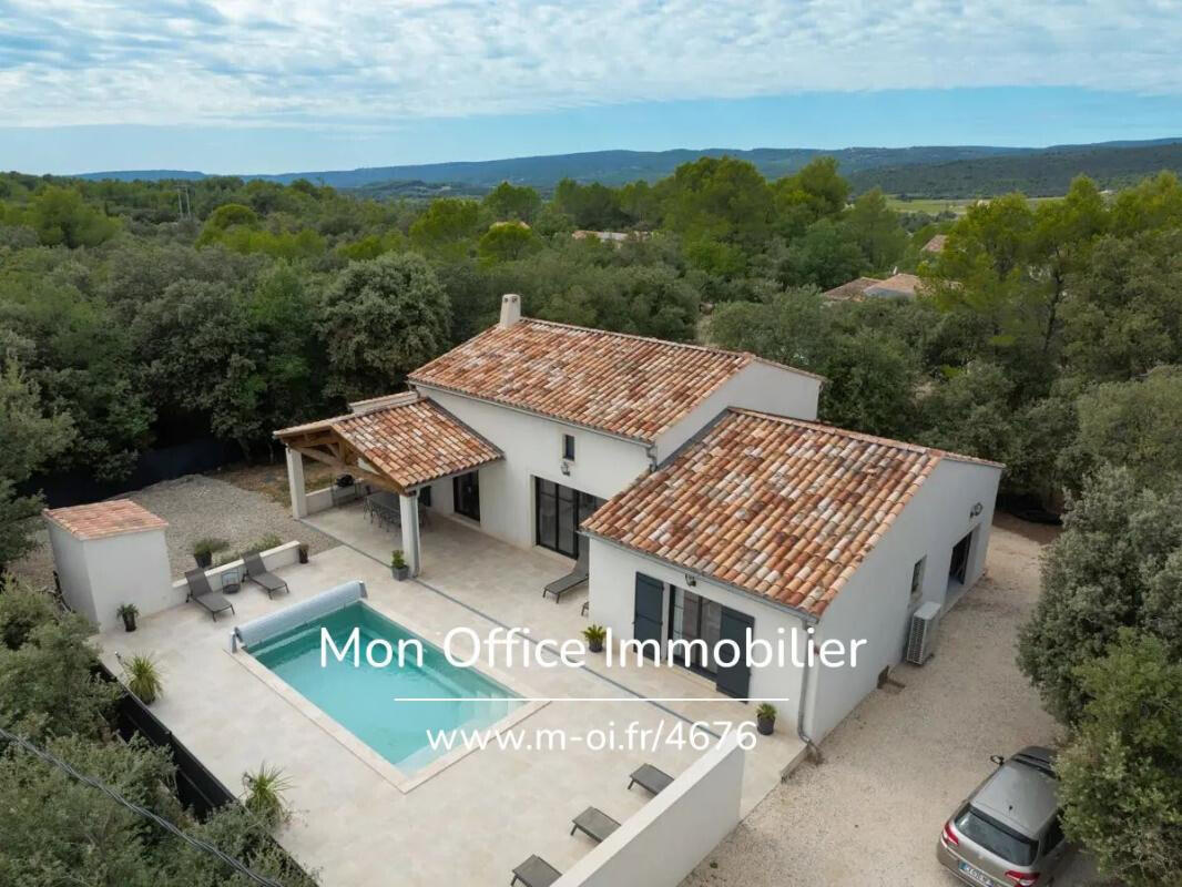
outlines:
[[[728,378],[684,419],[657,438],[657,460],[664,461],[727,407],[758,409],[780,416],[812,420],[821,380],[755,361]]]

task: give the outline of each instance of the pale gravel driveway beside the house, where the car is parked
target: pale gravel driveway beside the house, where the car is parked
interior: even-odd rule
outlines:
[[[683,887],[955,887],[936,837],[992,769],[989,756],[1050,745],[1058,727],[1014,665],[1038,597],[1040,545],[1001,518],[988,574],[941,626],[936,655],[902,665],[904,689],[876,691],[695,869]],[[1043,533],[1045,536],[1045,531]],[[1076,855],[1057,887],[1087,883]]]

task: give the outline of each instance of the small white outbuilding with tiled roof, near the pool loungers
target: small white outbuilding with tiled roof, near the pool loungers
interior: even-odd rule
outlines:
[[[41,512],[50,527],[61,596],[100,630],[119,624],[119,607],[142,615],[176,603],[168,522],[130,499],[110,499]]]

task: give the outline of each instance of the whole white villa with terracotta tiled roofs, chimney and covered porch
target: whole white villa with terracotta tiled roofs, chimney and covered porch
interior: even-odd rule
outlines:
[[[589,564],[593,622],[820,739],[897,663],[911,614],[980,577],[1001,466],[816,421],[824,380],[751,354],[524,318],[418,368],[407,393],[275,433],[420,510]],[[540,589],[539,589],[540,590]],[[560,606],[569,606],[563,601]],[[726,663],[722,640],[853,641],[856,667]],[[829,645],[829,646],[826,646]]]

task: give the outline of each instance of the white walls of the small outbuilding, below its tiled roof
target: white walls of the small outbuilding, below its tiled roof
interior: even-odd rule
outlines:
[[[122,624],[118,609],[124,603],[134,603],[141,616],[176,604],[163,530],[78,539],[48,525],[61,595],[99,629]]]

